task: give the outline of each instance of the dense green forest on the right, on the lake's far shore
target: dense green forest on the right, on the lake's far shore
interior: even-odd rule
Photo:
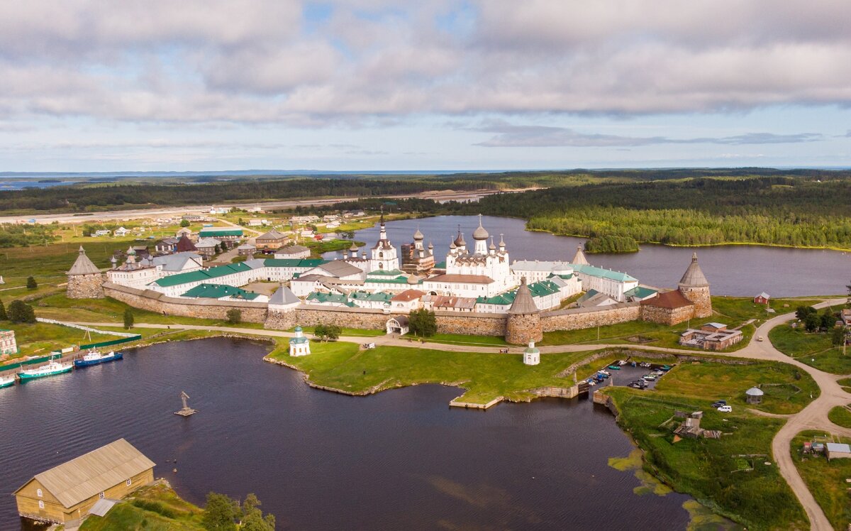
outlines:
[[[631,240],[851,249],[849,198],[848,178],[701,177],[497,193],[466,204],[394,199],[391,208],[422,214],[481,212],[519,217],[528,220],[531,230],[590,237],[591,249],[605,252],[630,251]],[[386,200],[375,198],[337,208],[378,208],[382,203]],[[604,237],[609,240],[599,240]]]

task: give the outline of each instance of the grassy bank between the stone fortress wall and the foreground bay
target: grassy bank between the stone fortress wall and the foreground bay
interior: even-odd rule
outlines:
[[[311,355],[293,358],[286,340],[272,358],[306,372],[311,382],[349,392],[392,389],[414,384],[454,384],[466,390],[464,401],[486,403],[498,396],[528,401],[526,390],[569,387],[573,378],[557,378],[587,352],[541,355],[540,365],[523,365],[520,355],[446,352],[435,349],[378,347],[360,350],[354,343],[311,343]]]

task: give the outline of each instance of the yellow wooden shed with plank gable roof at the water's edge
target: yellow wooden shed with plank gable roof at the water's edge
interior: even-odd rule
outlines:
[[[99,499],[121,499],[154,481],[154,463],[124,439],[34,476],[14,497],[21,517],[65,523]]]

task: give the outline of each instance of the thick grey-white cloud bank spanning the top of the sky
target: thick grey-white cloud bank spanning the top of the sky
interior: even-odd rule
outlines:
[[[312,20],[297,0],[0,3],[0,119],[317,126],[851,106],[848,2],[323,5]]]

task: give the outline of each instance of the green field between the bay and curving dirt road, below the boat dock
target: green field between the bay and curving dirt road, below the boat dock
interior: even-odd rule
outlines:
[[[693,495],[749,529],[809,528],[801,505],[771,458],[771,440],[783,420],[743,414],[741,409],[723,414],[706,410],[708,395],[648,395],[628,388],[612,388],[607,393],[620,411],[619,424],[645,451],[646,467],[677,492]],[[666,421],[675,410],[695,409],[705,411],[701,427],[721,430],[724,435],[673,442],[672,430],[677,424]],[[758,455],[740,457],[753,454]],[[742,459],[753,470],[739,471]]]

